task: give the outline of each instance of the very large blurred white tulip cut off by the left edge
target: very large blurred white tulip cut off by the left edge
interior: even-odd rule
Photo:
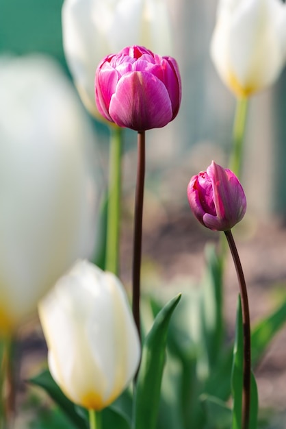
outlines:
[[[92,129],[47,58],[0,60],[0,334],[94,247]]]

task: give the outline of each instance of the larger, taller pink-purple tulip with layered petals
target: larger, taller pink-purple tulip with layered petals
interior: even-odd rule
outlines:
[[[95,99],[103,117],[120,127],[164,127],[177,116],[181,103],[178,64],[141,46],[126,47],[99,64]]]

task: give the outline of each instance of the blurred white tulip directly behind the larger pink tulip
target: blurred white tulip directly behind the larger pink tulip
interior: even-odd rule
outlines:
[[[65,0],[64,52],[86,108],[100,117],[94,101],[94,75],[101,60],[129,45],[170,55],[166,0]]]

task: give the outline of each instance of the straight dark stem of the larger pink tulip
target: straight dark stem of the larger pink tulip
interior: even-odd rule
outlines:
[[[135,324],[140,336],[140,268],[142,253],[142,215],[144,199],[144,177],[145,177],[145,132],[138,132],[138,163],[137,180],[135,191],[135,214],[134,214],[134,236],[133,236],[133,302],[132,310]]]

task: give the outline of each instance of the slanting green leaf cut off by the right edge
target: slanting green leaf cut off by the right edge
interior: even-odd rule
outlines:
[[[274,335],[286,322],[286,302],[252,330],[252,365],[257,365]]]

